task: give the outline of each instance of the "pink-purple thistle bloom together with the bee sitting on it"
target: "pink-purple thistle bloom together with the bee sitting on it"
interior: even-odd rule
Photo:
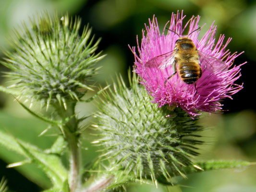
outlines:
[[[138,54],[131,48],[134,71],[159,107],[180,107],[191,116],[221,110],[220,101],[243,88],[234,84],[244,63],[233,66],[233,62],[241,53],[226,50],[231,38],[224,43],[224,35],[220,35],[216,42],[214,24],[199,40],[200,16],[183,26],[184,18],[183,12],[172,13],[164,27],[170,25],[167,35],[165,30],[160,33],[155,17],[149,20],[141,45],[137,39]],[[188,36],[184,36],[187,27]]]

